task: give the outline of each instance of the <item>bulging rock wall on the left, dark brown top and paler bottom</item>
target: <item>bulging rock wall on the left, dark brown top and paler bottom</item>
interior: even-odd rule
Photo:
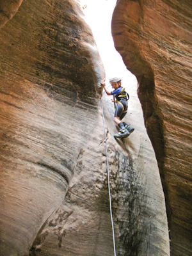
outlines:
[[[1,14],[13,13],[21,1],[14,1],[14,8],[13,1],[0,3]],[[84,136],[77,123],[80,127],[82,120],[86,127],[89,109],[81,111],[97,104],[102,63],[81,14],[74,1],[24,1],[12,19],[12,14],[6,15],[10,21],[1,23],[0,254],[4,256],[24,255],[65,198],[82,145],[78,135],[71,141],[70,131],[75,127]]]

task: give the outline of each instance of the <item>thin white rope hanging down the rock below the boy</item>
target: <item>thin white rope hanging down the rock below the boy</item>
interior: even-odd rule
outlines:
[[[102,101],[101,100],[100,100],[100,104],[101,104],[101,109],[102,109],[102,121],[103,121],[105,141],[106,141],[106,159],[107,159],[107,168],[108,168],[109,205],[110,205],[112,232],[113,232],[113,248],[114,248],[114,255],[116,256],[115,232],[114,232],[114,226],[113,226],[113,215],[112,215],[112,207],[111,207],[111,192],[110,192],[110,180],[109,180],[108,145],[107,145],[107,139],[106,139],[106,127],[105,127],[105,122],[104,122],[104,113],[103,113]]]

